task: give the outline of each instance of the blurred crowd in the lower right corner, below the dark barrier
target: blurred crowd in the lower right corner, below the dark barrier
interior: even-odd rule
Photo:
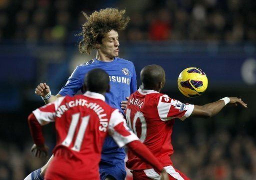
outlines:
[[[173,142],[174,166],[191,180],[256,180],[256,144],[246,135],[227,131],[206,136],[187,134]]]

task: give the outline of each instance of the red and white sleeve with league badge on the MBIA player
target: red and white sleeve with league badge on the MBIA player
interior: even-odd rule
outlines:
[[[194,109],[192,104],[183,104],[178,100],[171,99],[167,95],[159,98],[157,111],[162,121],[178,118],[184,120],[188,118]]]

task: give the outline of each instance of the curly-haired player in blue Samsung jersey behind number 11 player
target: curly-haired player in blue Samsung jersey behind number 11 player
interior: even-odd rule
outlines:
[[[110,80],[110,92],[105,95],[106,102],[123,112],[122,109],[125,109],[127,103],[126,97],[137,90],[133,63],[117,57],[119,52],[117,31],[123,30],[129,21],[128,17],[124,17],[124,13],[125,10],[115,8],[94,11],[90,16],[84,13],[86,22],[82,25],[80,35],[83,39],[79,43],[79,50],[81,53],[90,54],[92,49],[96,49],[96,58],[77,66],[57,95],[51,95],[46,83],[40,83],[35,89],[35,94],[40,95],[46,104],[61,96],[73,96],[82,90],[84,74],[91,69],[101,68],[109,74]],[[44,152],[40,148],[33,146],[31,151]],[[25,180],[42,180],[52,158],[53,156],[44,167],[32,172]],[[126,176],[124,158],[123,148],[118,148],[110,136],[106,138],[99,164],[100,180],[124,180]]]

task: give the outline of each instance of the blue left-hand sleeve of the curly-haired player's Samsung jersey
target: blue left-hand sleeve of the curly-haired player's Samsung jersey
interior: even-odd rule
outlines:
[[[73,96],[74,94],[76,94],[77,91],[81,89],[83,83],[83,76],[80,75],[79,69],[79,66],[74,69],[70,77],[67,79],[65,86],[61,88],[58,94],[60,94],[61,96]]]

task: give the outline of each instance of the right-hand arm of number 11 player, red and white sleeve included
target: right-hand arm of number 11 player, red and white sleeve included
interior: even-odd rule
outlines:
[[[159,161],[152,155],[146,146],[138,140],[137,136],[127,128],[125,120],[118,110],[114,110],[111,114],[108,132],[119,147],[126,145],[141,160],[151,165],[157,171],[160,171],[163,175],[166,173]]]

